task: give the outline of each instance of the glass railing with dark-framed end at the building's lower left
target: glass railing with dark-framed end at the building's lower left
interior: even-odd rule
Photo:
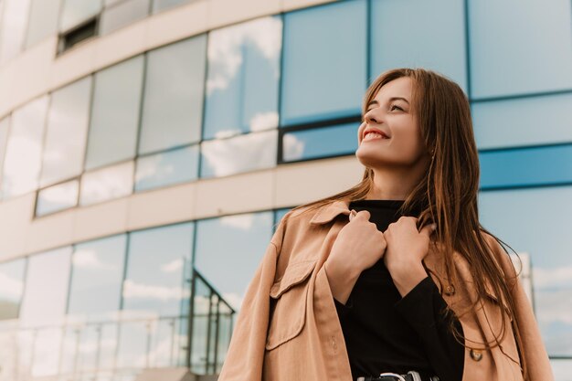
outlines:
[[[217,374],[235,311],[196,270],[193,275],[193,302],[182,302],[182,315],[117,312],[89,322],[66,316],[65,323],[35,327],[0,322],[0,381],[131,381],[144,368],[161,367]]]

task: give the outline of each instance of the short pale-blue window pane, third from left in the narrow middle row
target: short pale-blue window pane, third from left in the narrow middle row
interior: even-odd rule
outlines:
[[[135,191],[196,180],[198,145],[137,159]]]

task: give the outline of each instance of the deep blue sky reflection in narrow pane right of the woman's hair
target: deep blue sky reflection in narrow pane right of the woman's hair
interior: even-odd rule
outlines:
[[[572,144],[482,152],[481,187],[572,182]]]

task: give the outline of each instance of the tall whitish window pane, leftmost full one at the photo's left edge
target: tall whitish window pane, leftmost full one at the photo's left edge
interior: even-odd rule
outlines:
[[[48,96],[12,113],[2,182],[4,198],[36,190]]]

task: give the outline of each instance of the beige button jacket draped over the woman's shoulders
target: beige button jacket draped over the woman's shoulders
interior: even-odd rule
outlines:
[[[246,291],[219,381],[352,380],[344,335],[323,267],[338,232],[349,221],[348,206],[345,201],[336,201],[317,212],[300,216],[300,211],[290,211],[287,220],[282,218]],[[504,272],[514,274],[503,248],[491,236],[486,238]],[[509,334],[501,342],[502,350],[498,346],[485,349],[482,344],[473,344],[482,343],[483,337],[491,340],[493,332],[501,331],[502,310],[496,308],[498,300],[490,292],[477,312],[461,313],[476,293],[471,288],[466,260],[458,252],[455,256],[463,284],[453,285],[455,291],[443,293],[443,298],[458,314],[467,338],[462,381],[523,380],[510,319],[506,319]],[[438,249],[433,249],[433,245],[429,245],[425,264],[440,274],[441,280],[445,279]],[[440,287],[436,277],[431,276]],[[522,322],[523,352],[530,380],[554,380],[520,281],[513,297]],[[490,329],[481,333],[477,322]]]

